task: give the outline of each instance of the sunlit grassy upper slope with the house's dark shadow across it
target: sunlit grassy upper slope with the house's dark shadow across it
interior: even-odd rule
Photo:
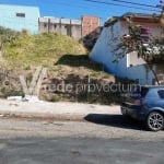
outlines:
[[[7,43],[4,49],[3,58],[11,70],[33,70],[37,66],[43,66],[51,73],[58,74],[103,74],[103,67],[89,60],[83,45],[69,36],[21,35]]]

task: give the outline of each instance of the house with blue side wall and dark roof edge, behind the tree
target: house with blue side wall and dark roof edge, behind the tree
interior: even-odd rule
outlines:
[[[154,72],[142,58],[138,57],[137,51],[129,52],[124,58],[120,58],[119,61],[115,62],[117,58],[115,49],[120,43],[120,37],[129,34],[129,22],[127,21],[129,16],[132,16],[133,24],[149,27],[153,36],[161,36],[162,28],[154,15],[127,13],[122,16],[115,16],[105,23],[103,32],[92,49],[90,57],[103,63],[106,71],[117,77],[136,80],[140,84],[154,84]],[[143,36],[145,44],[148,40],[149,36]]]

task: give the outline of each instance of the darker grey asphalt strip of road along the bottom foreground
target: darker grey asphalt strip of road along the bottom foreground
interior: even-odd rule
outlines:
[[[164,142],[124,139],[0,140],[0,164],[163,164]]]

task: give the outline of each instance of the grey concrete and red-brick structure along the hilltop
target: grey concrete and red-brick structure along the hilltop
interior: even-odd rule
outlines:
[[[58,33],[74,38],[83,38],[89,35],[97,37],[101,19],[91,15],[83,15],[80,20],[44,16],[39,17],[38,24],[39,33]]]

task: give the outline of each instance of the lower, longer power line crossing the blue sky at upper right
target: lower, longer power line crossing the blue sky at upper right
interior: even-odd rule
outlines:
[[[138,7],[132,7],[132,5],[124,5],[124,4],[112,3],[112,2],[106,2],[106,1],[97,1],[97,0],[85,0],[85,1],[93,2],[93,3],[102,3],[106,5],[116,5],[116,7],[125,7],[125,8],[131,8],[131,9],[140,9],[140,10],[145,10],[145,11],[161,12],[159,10],[138,8]]]

